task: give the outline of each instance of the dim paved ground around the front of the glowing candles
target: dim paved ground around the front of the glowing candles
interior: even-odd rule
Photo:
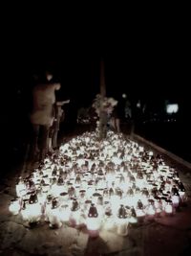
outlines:
[[[22,169],[23,167],[23,169]],[[32,170],[27,163],[19,170]],[[20,172],[19,171],[19,172]],[[187,194],[187,205],[174,217],[156,218],[144,224],[130,226],[127,237],[119,237],[116,230],[101,231],[96,239],[89,238],[86,230],[70,226],[50,229],[40,223],[30,228],[20,216],[9,212],[15,195],[15,178],[18,171],[7,175],[0,184],[0,255],[132,255],[165,256],[191,255],[191,173],[180,169]]]

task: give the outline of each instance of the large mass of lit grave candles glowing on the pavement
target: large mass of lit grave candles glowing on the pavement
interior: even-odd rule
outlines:
[[[27,178],[20,177],[10,211],[50,227],[86,226],[128,234],[128,225],[171,216],[185,202],[177,170],[123,134],[85,132],[62,145]]]

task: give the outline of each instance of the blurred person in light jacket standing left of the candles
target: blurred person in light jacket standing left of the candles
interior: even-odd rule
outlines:
[[[59,90],[60,83],[53,82],[53,75],[46,72],[45,81],[37,82],[32,91],[32,159],[39,154],[43,160],[48,152],[49,130],[53,126],[53,105],[55,90]]]

